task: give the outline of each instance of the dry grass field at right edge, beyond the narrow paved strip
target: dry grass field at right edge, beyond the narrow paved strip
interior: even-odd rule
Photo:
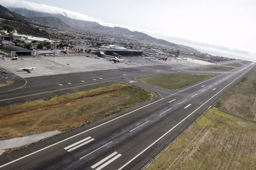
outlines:
[[[256,120],[256,67],[224,93],[215,107]]]

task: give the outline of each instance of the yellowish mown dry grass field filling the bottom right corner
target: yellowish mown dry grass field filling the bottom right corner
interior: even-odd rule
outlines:
[[[256,124],[210,109],[148,170],[256,169]]]

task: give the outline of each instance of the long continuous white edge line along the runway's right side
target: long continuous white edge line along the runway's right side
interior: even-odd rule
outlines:
[[[252,67],[251,67],[252,68]],[[249,69],[248,69],[249,70]],[[248,71],[247,70],[247,71]],[[244,71],[246,73],[247,71]],[[244,74],[243,73],[243,74]],[[241,77],[243,74],[241,74],[239,77]],[[155,143],[157,143],[159,140],[161,140],[163,137],[165,137],[170,131],[172,131],[175,127],[177,127],[179,124],[181,124],[184,120],[186,120],[188,117],[190,117],[193,113],[195,113],[198,109],[200,109],[204,104],[206,104],[208,101],[213,99],[217,94],[219,94],[222,90],[224,90],[226,87],[228,87],[230,84],[232,84],[234,81],[236,81],[239,77],[237,77],[235,80],[233,80],[231,83],[229,83],[227,86],[225,86],[223,89],[221,89],[219,92],[214,94],[210,99],[208,99],[206,102],[204,102],[201,106],[199,106],[196,110],[194,110],[192,113],[190,113],[187,117],[185,117],[183,120],[181,120],[179,123],[177,123],[174,127],[172,127],[170,130],[168,130],[165,134],[163,134],[160,138],[155,140],[153,143],[151,143],[148,147],[146,147],[144,150],[142,150],[140,153],[138,153],[135,157],[133,157],[131,160],[129,160],[127,163],[125,163],[123,166],[121,166],[118,170],[123,169],[125,166],[127,166],[129,163],[131,163],[133,160],[135,160],[138,156],[140,156],[142,153],[144,153],[146,150],[148,150],[151,146],[153,146]],[[160,99],[161,100],[161,99]]]

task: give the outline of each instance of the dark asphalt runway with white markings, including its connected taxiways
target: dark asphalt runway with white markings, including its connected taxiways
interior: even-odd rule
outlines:
[[[117,82],[144,87],[158,97],[2,156],[0,169],[141,169],[254,65],[217,72],[178,91],[138,79],[177,71],[199,73],[193,70],[200,65],[142,66],[21,79],[26,81],[22,87],[6,87],[0,92],[1,106]]]

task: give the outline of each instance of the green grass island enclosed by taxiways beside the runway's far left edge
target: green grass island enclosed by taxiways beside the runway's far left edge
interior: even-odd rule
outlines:
[[[215,74],[165,74],[140,80],[154,86],[176,90],[212,76]]]

